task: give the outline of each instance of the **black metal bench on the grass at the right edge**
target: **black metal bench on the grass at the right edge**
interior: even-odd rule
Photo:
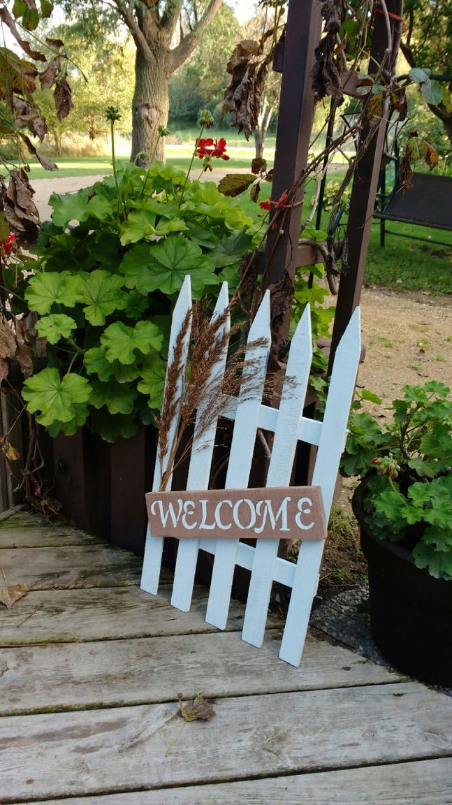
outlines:
[[[412,181],[413,188],[404,193],[397,182],[388,196],[384,195],[382,188],[381,207],[374,213],[380,219],[380,245],[384,246],[386,234],[392,234],[450,246],[450,242],[432,241],[431,238],[394,232],[386,228],[386,221],[400,221],[403,224],[429,226],[452,232],[452,176],[414,173]]]

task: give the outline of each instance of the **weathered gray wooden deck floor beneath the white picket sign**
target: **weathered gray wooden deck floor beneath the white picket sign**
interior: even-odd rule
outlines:
[[[452,805],[452,699],[312,638],[281,663],[235,601],[219,634],[204,588],[183,613],[124,551],[12,531],[0,566],[36,589],[0,606],[2,805]],[[216,716],[186,724],[179,692]]]

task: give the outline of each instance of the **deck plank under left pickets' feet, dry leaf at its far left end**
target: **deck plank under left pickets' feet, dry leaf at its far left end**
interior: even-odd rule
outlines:
[[[166,584],[157,596],[136,585],[32,591],[9,611],[0,610],[0,646],[216,631],[204,620],[206,588],[195,587],[189,613],[171,607],[170,597]],[[241,630],[243,612],[242,604],[231,601],[227,630]]]

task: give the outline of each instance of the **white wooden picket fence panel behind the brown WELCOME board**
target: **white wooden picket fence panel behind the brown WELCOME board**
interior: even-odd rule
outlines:
[[[214,316],[224,313],[227,306],[228,287],[224,283]],[[190,277],[187,276],[173,315],[169,364],[174,353],[176,338],[190,308],[191,287]],[[246,391],[242,394],[240,391],[238,398],[224,395],[224,406],[221,407],[221,416],[234,420],[225,488],[246,489],[248,486],[258,427],[274,433],[267,476],[268,487],[290,485],[298,440],[317,445],[311,483],[321,488],[325,518],[328,521],[339,459],[347,436],[347,419],[360,360],[360,310],[359,308],[355,310],[336,351],[322,422],[308,419],[302,414],[312,359],[309,307],[306,307],[290,345],[286,381],[282,387],[279,408],[271,408],[261,402],[271,343],[269,320],[267,292],[250,329],[249,346],[245,354],[242,386],[246,388],[246,378],[252,374],[253,394],[247,394]],[[228,321],[222,326],[229,328]],[[187,332],[184,343],[185,361],[189,335]],[[224,353],[212,372],[212,376],[215,375],[216,378],[215,382],[224,372],[225,361]],[[181,383],[182,379],[181,377]],[[257,386],[260,391],[257,390]],[[217,423],[216,421],[212,422],[212,425],[209,423],[208,430],[204,427],[199,433],[198,421],[201,415],[202,411],[198,411],[187,490],[208,489]],[[178,425],[179,414],[176,413],[171,425],[170,440]],[[165,469],[166,464],[163,460],[162,471]],[[160,461],[157,458],[154,491],[159,489],[160,473]],[[167,489],[170,488],[171,481],[167,485]],[[302,658],[310,609],[317,590],[324,540],[302,541],[297,564],[281,559],[277,555],[278,543],[277,539],[257,539],[256,547],[252,547],[240,542],[239,539],[208,539],[196,536],[179,540],[171,604],[184,612],[190,609],[198,551],[200,548],[208,551],[214,555],[214,562],[205,619],[223,630],[228,619],[234,569],[236,565],[248,568],[251,571],[251,580],[242,639],[253,646],[261,646],[273,580],[286,584],[291,588],[290,605],[279,656],[287,663],[298,666]],[[153,594],[158,592],[162,547],[163,540],[150,535],[148,527],[141,586],[143,590]]]

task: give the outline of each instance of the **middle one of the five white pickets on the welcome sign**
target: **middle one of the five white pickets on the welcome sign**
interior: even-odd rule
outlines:
[[[267,291],[249,331],[239,404],[232,433],[226,489],[246,489],[248,486],[270,345],[270,295]],[[218,540],[215,546],[206,621],[218,629],[224,629],[228,618],[238,545],[238,539],[228,539]]]

